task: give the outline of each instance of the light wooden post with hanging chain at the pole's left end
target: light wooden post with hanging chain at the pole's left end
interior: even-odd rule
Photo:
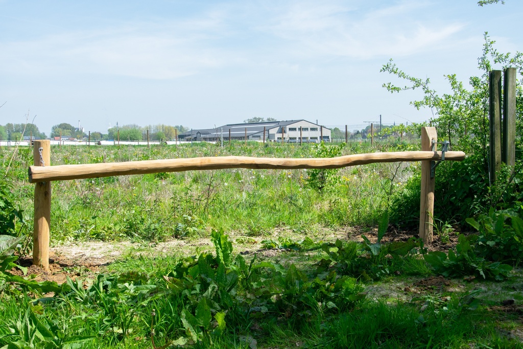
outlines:
[[[51,165],[51,141],[35,140],[35,166]],[[49,232],[51,230],[51,181],[35,185],[35,220],[33,221],[33,264],[49,271]]]

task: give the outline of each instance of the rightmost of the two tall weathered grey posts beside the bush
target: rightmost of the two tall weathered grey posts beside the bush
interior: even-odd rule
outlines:
[[[516,68],[507,68],[503,76],[503,149],[501,160],[516,164]]]

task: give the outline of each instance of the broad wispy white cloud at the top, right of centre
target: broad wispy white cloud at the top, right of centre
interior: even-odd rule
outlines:
[[[409,1],[362,12],[340,3],[299,2],[284,9],[266,30],[310,57],[398,57],[438,49],[462,29],[459,23],[414,17],[424,6],[428,4]]]

